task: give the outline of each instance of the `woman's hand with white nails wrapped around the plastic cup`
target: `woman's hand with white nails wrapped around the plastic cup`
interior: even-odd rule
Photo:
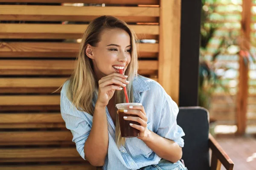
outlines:
[[[130,110],[124,110],[124,113],[138,115],[135,116],[125,116],[125,120],[131,120],[134,122],[138,122],[140,125],[130,124],[131,127],[134,127],[137,130],[140,130],[138,139],[146,140],[150,131],[147,127],[148,118],[146,116],[145,110],[143,106],[130,106]],[[127,117],[127,118],[126,118]]]

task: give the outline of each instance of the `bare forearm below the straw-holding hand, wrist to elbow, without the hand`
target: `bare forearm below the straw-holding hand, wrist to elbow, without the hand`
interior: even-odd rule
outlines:
[[[93,125],[84,144],[84,155],[90,164],[101,167],[108,153],[108,123],[106,108],[95,105]]]

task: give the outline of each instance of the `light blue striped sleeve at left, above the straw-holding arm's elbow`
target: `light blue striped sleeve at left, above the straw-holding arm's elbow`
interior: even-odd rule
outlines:
[[[84,112],[76,109],[64,94],[61,94],[61,116],[67,129],[73,134],[72,142],[76,143],[76,150],[85,160],[84,143],[87,140],[91,127],[84,117]]]

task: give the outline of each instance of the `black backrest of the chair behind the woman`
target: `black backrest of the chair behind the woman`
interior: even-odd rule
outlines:
[[[209,170],[209,112],[201,107],[180,107],[177,124],[183,128],[182,159],[189,170]]]

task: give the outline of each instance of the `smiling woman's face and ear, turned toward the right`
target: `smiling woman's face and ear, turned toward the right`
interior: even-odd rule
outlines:
[[[120,28],[103,30],[96,47],[88,45],[86,51],[88,48],[91,48],[91,54],[87,56],[93,60],[93,70],[98,79],[119,73],[119,68],[123,68],[124,73],[131,62],[131,38]]]

